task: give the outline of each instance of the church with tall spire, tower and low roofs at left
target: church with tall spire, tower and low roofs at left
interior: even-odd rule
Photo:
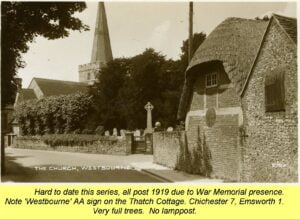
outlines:
[[[48,96],[67,95],[77,92],[87,92],[88,87],[97,80],[97,74],[113,59],[104,2],[98,2],[97,18],[94,30],[94,40],[91,61],[79,65],[79,81],[63,81],[46,78],[32,78],[28,88],[20,86],[15,105],[29,99],[41,99]]]

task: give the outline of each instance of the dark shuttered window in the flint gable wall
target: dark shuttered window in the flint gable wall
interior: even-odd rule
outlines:
[[[284,70],[278,68],[266,74],[265,107],[266,112],[284,111]]]

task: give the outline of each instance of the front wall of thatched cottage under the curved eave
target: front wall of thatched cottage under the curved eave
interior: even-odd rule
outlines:
[[[211,72],[217,73],[218,86],[206,88],[205,75]],[[193,96],[186,117],[189,149],[193,151],[199,144],[206,145],[211,154],[211,176],[237,181],[241,161],[239,127],[243,123],[239,96],[222,66],[195,74]],[[208,109],[215,111],[215,119],[207,117]]]

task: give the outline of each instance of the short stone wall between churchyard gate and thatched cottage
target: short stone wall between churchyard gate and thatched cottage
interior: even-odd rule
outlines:
[[[153,162],[175,168],[180,152],[180,141],[184,142],[184,131],[153,133]]]

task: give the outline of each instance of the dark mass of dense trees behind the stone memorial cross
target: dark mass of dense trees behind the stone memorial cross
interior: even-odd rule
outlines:
[[[205,37],[204,33],[194,34],[194,52]],[[188,65],[187,46],[186,40],[181,48],[181,59],[177,61],[167,60],[150,48],[134,57],[109,62],[100,70],[99,82],[92,89],[95,104],[90,121],[108,130],[143,129],[146,126],[144,106],[150,101],[154,105],[153,122],[161,122],[162,128],[176,126]]]

